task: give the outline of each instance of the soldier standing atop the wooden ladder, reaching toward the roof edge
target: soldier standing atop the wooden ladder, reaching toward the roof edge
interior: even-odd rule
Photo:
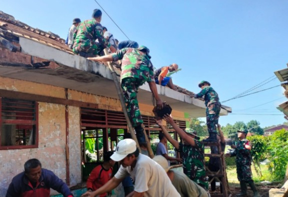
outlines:
[[[201,98],[204,96],[206,106],[206,124],[209,132],[209,137],[207,139],[204,139],[203,141],[213,142],[217,140],[216,125],[218,124],[221,104],[219,102],[217,92],[212,87],[210,87],[210,83],[208,81],[201,81],[198,86],[202,89],[201,92],[199,92],[198,94],[192,93],[191,97]]]

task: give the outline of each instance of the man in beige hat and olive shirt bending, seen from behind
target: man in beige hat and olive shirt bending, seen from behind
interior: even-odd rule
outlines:
[[[191,180],[182,171],[172,170],[168,166],[168,161],[162,155],[157,155],[153,158],[159,165],[161,165],[167,172],[168,177],[172,181],[172,184],[180,193],[181,197],[198,196],[208,197],[207,191],[199,186],[196,182]]]

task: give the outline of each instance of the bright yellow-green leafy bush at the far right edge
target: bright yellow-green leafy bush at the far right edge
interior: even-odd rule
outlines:
[[[268,139],[269,169],[274,180],[283,180],[288,160],[288,131],[275,131]]]

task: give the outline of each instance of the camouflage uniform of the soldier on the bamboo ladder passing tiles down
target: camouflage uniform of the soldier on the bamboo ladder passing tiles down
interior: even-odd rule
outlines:
[[[127,111],[133,127],[143,123],[138,100],[138,87],[147,82],[155,82],[153,76],[153,65],[149,57],[133,48],[124,48],[112,54],[113,61],[122,59],[121,86]]]

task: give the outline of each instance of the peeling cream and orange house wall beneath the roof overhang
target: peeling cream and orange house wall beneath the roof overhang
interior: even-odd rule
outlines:
[[[0,77],[0,90],[65,98],[65,89],[51,85]],[[33,100],[33,98],[31,98]],[[118,99],[68,90],[68,99],[95,103],[100,109],[122,111]],[[29,149],[0,150],[0,196],[5,196],[12,178],[24,171],[24,163],[30,158],[38,158],[44,168],[51,169],[66,181],[66,118],[65,105],[39,103],[39,147]],[[152,104],[152,103],[151,103]],[[141,113],[152,114],[152,105],[141,105]],[[173,111],[174,118],[184,119],[184,113]],[[68,106],[68,146],[70,186],[81,182],[81,128],[80,107]],[[51,194],[56,192],[52,191]]]

